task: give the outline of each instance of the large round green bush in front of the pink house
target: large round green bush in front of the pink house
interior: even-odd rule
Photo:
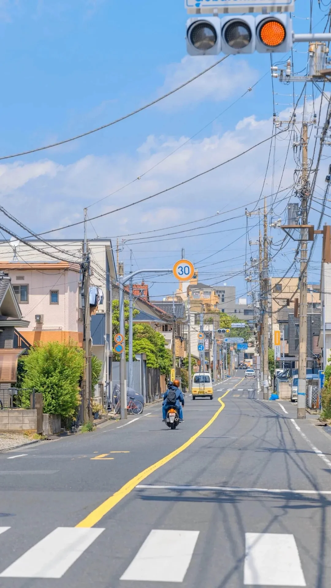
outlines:
[[[29,349],[24,360],[22,388],[41,392],[44,412],[63,417],[75,416],[80,404],[78,382],[84,368],[82,349],[72,342],[49,342]],[[24,390],[23,406],[30,406]]]

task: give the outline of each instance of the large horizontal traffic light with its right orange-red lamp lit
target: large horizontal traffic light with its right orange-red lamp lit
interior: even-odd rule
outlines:
[[[289,14],[210,16],[187,21],[190,55],[287,52],[293,45]]]

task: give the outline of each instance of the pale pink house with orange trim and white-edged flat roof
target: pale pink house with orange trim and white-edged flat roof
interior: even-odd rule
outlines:
[[[75,340],[82,345],[81,239],[31,239],[0,242],[0,269],[11,276],[16,298],[22,305],[28,328],[20,329],[32,345],[37,342]],[[102,397],[111,380],[112,291],[117,282],[110,239],[88,240],[91,258],[91,289],[95,298],[91,312],[92,354],[102,361],[96,396]],[[92,296],[93,298],[93,296]],[[108,376],[109,375],[109,376]]]

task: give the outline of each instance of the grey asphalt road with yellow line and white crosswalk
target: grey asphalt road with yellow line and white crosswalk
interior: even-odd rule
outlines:
[[[1,453],[1,588],[330,588],[331,436],[242,376]]]

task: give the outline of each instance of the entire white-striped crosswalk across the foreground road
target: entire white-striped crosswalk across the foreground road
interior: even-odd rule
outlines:
[[[0,534],[10,529],[0,527]],[[0,577],[59,579],[103,531],[58,527],[6,567]],[[194,553],[199,534],[199,530],[151,530],[120,579],[183,582],[194,557],[201,565],[201,547]],[[245,586],[306,586],[293,534],[246,533],[245,543]],[[223,572],[224,565],[226,562],[220,558]]]

